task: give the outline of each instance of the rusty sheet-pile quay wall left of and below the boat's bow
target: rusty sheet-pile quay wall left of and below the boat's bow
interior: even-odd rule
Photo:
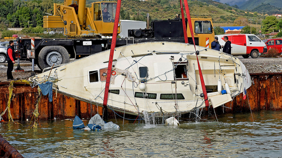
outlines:
[[[0,82],[0,112],[4,111],[9,97],[8,82]],[[15,82],[14,91],[11,98],[10,110],[14,120],[31,119],[32,112],[36,108],[38,97],[37,87],[31,88],[25,83]],[[80,118],[91,118],[97,114],[102,115],[102,107],[92,105],[71,97],[64,96],[53,92],[53,101],[49,102],[47,96],[41,96],[39,102],[39,117],[38,119],[70,119],[78,115]],[[92,114],[91,114],[92,112]],[[4,120],[7,120],[7,115],[4,114]]]

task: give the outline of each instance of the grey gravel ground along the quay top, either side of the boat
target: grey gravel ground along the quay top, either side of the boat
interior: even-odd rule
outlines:
[[[235,56],[238,57],[241,62],[246,66],[249,73],[279,73],[282,72],[282,58],[263,58],[258,57],[253,59],[251,57],[245,59],[242,56]],[[31,62],[28,61],[20,61],[20,63],[28,64]],[[24,69],[24,72],[15,72],[13,71],[12,74],[14,78],[17,79],[28,79],[31,75],[31,66],[23,66],[21,67]],[[14,67],[16,69],[16,67]],[[35,73],[41,73],[41,70],[38,66],[34,67]],[[7,80],[7,67],[5,67],[5,63],[0,64],[0,81],[5,82]]]

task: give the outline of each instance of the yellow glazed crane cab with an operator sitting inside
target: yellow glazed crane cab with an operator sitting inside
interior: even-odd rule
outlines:
[[[91,13],[98,34],[112,35],[114,28],[114,18],[116,14],[116,2],[101,1],[92,3]],[[118,24],[118,33],[120,33],[120,22]]]

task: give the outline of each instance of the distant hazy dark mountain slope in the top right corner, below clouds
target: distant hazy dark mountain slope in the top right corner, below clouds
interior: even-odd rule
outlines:
[[[262,3],[270,4],[272,6],[282,8],[281,0],[249,0],[238,6],[240,9],[243,9],[243,10],[252,10],[255,7],[261,5]],[[259,10],[257,12],[259,12]]]

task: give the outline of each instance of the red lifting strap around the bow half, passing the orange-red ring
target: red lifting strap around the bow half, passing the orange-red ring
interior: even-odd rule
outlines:
[[[107,108],[107,102],[108,102],[109,86],[110,86],[112,64],[113,64],[113,57],[114,57],[114,48],[116,47],[116,37],[118,34],[120,5],[121,5],[121,0],[118,0],[117,6],[116,6],[116,15],[114,18],[113,38],[112,38],[111,51],[110,51],[110,56],[109,56],[109,64],[108,64],[108,70],[107,70],[107,79],[106,79],[105,92],[104,92],[104,100],[103,100],[104,108]]]

